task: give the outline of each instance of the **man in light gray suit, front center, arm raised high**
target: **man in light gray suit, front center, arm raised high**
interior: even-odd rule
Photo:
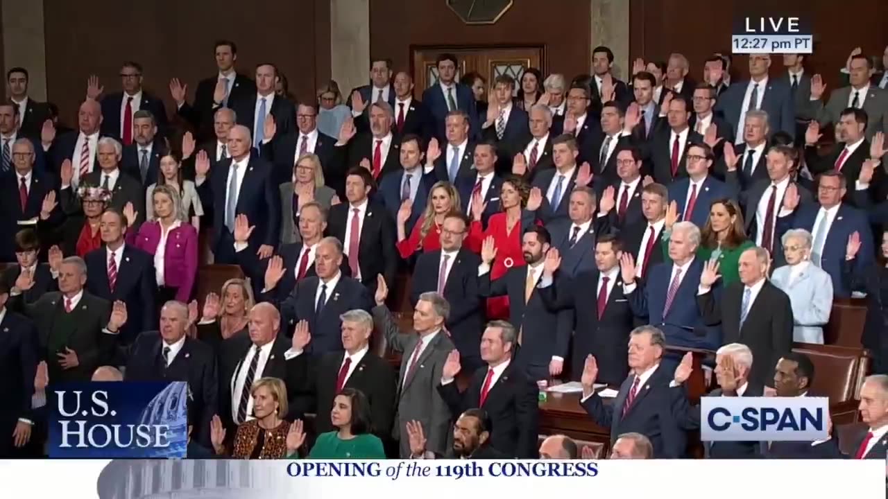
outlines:
[[[450,305],[440,294],[423,293],[416,302],[413,313],[413,330],[402,332],[385,306],[388,286],[382,275],[377,276],[377,306],[373,319],[382,329],[385,341],[392,350],[401,352],[398,376],[397,416],[394,419],[392,437],[400,440],[400,457],[410,457],[410,445],[406,436],[409,421],[423,425],[426,449],[443,455],[450,448],[451,414],[438,393],[448,354],[456,350],[444,331],[444,323],[450,314]],[[404,437],[401,438],[401,435]]]

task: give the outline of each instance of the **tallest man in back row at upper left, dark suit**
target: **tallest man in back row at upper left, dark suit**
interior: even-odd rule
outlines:
[[[213,137],[213,117],[221,107],[229,107],[229,102],[249,97],[256,93],[256,83],[250,76],[237,73],[237,44],[231,40],[218,40],[214,45],[218,75],[210,76],[197,83],[194,91],[194,105],[186,101],[187,85],[170,81],[170,94],[176,102],[177,113],[186,119],[197,131],[200,141]]]

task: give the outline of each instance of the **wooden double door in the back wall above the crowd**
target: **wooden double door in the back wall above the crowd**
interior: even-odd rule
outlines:
[[[435,59],[442,53],[456,55],[456,80],[466,73],[477,71],[488,81],[488,86],[499,75],[510,75],[520,82],[527,67],[536,67],[546,74],[545,49],[543,45],[517,46],[414,46],[413,81],[416,96],[438,83],[438,67]],[[516,85],[516,91],[518,85]]]

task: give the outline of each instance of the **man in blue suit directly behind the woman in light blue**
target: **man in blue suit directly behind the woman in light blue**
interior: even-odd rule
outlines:
[[[836,170],[822,173],[818,176],[817,203],[799,206],[797,198],[793,198],[789,206],[784,203],[785,208],[793,211],[777,218],[777,231],[781,237],[789,229],[805,229],[812,234],[811,261],[829,273],[833,296],[837,298],[851,297],[850,283],[842,278],[845,248],[851,234],[860,235],[860,251],[854,264],[857,273],[866,272],[876,255],[866,212],[842,202],[846,182],[844,175]]]

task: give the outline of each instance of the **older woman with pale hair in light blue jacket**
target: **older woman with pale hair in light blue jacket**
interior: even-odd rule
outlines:
[[[811,233],[792,229],[783,234],[781,242],[787,265],[774,270],[771,282],[789,295],[796,324],[792,339],[823,345],[823,325],[829,322],[832,311],[832,279],[811,263]]]

